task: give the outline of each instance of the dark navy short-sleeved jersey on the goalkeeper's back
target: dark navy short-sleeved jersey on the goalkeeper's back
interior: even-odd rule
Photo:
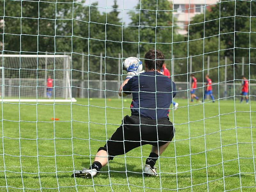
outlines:
[[[132,77],[123,91],[125,94],[132,93],[132,115],[155,120],[168,117],[172,98],[176,95],[175,83],[156,71]]]

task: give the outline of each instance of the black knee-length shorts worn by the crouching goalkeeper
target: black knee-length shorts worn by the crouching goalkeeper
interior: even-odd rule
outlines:
[[[156,121],[127,115],[124,117],[122,125],[117,128],[106,145],[99,150],[106,150],[109,159],[113,159],[114,156],[123,155],[141,145],[162,146],[172,140],[174,132],[172,122],[168,118]]]

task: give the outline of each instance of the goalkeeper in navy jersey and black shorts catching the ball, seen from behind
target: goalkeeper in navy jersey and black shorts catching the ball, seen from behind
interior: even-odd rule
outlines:
[[[146,160],[144,174],[158,176],[156,161],[168,147],[175,132],[168,117],[175,96],[175,84],[160,73],[163,63],[164,54],[151,49],[145,54],[145,72],[139,73],[141,62],[132,62],[127,67],[128,75],[119,89],[119,96],[132,93],[132,115],[125,116],[122,125],[106,145],[99,148],[91,167],[75,171],[72,177],[92,178],[108,160],[146,144],[152,145],[152,150]]]

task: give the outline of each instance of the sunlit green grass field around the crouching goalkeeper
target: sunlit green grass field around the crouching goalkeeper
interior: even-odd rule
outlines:
[[[189,107],[187,100],[176,100],[181,108],[170,111],[175,140],[156,164],[160,177],[143,178],[141,162],[150,153],[143,146],[115,157],[110,171],[102,168],[93,180],[70,175],[74,167],[89,167],[122,117],[130,115],[130,99],[92,99],[89,108],[86,99],[72,105],[3,103],[0,191],[256,191],[256,114],[250,112],[256,103],[238,99]]]

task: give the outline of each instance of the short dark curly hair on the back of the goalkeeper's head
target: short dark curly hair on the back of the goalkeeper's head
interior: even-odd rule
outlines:
[[[164,54],[158,49],[150,49],[145,54],[145,66],[149,70],[161,71],[164,64]]]

